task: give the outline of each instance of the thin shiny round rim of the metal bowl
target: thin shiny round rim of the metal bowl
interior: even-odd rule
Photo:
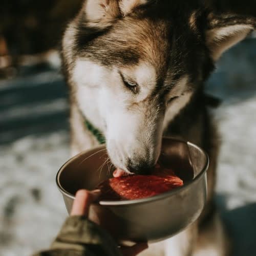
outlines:
[[[209,157],[208,157],[207,153],[204,150],[202,150],[201,147],[199,147],[196,144],[191,143],[189,141],[184,141],[184,140],[176,139],[176,138],[172,138],[172,137],[163,137],[163,139],[172,139],[172,140],[176,140],[176,141],[179,141],[179,142],[186,143],[187,145],[195,147],[197,150],[199,150],[205,156],[205,165],[203,166],[200,173],[193,180],[188,181],[186,184],[184,184],[181,187],[174,188],[170,191],[166,191],[164,193],[161,193],[161,194],[153,196],[153,197],[134,199],[134,200],[121,200],[121,201],[103,201],[103,200],[100,200],[97,203],[100,204],[100,205],[104,205],[104,206],[121,206],[121,205],[133,205],[133,204],[143,204],[143,203],[147,203],[147,202],[153,202],[153,201],[156,201],[156,200],[161,200],[161,199],[164,199],[166,197],[171,197],[175,194],[178,194],[180,191],[188,188],[190,185],[194,184],[197,180],[201,179],[201,177],[206,173],[206,171],[209,167]],[[65,195],[68,198],[73,199],[73,200],[75,199],[75,196],[72,195],[71,193],[69,193],[65,188],[63,188],[60,184],[60,181],[59,181],[59,177],[60,177],[63,169],[66,167],[66,165],[68,165],[70,162],[72,162],[76,158],[80,157],[84,153],[87,153],[89,151],[93,151],[93,150],[95,150],[96,148],[99,148],[99,147],[105,147],[105,144],[102,144],[102,145],[96,146],[96,147],[92,147],[92,148],[90,148],[90,150],[82,151],[81,153],[79,153],[79,154],[73,156],[72,158],[70,158],[68,161],[66,161],[59,168],[59,170],[56,174],[55,182],[56,182],[56,185],[57,185],[57,187],[60,190],[62,195]]]

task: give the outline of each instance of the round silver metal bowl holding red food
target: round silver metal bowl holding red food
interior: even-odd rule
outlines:
[[[113,168],[106,164],[106,159],[103,145],[82,152],[59,169],[56,183],[68,212],[78,189],[94,189],[112,177]],[[182,187],[145,199],[100,201],[91,206],[89,218],[118,241],[136,242],[160,241],[193,223],[206,202],[208,156],[190,142],[164,138],[159,161],[183,179]]]

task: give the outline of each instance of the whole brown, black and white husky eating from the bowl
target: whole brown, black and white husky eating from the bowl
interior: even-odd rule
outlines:
[[[212,200],[219,139],[203,86],[222,53],[255,26],[255,17],[216,12],[200,0],[87,0],[66,29],[73,155],[98,144],[85,119],[126,173],[147,173],[156,164],[163,135],[194,142],[209,155],[201,217],[146,255],[227,255]]]

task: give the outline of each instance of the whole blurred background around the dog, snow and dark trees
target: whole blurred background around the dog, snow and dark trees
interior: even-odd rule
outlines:
[[[238,0],[219,6],[233,3]],[[68,90],[57,50],[80,5],[81,0],[1,1],[1,255],[48,247],[67,216],[55,185],[58,168],[69,158]],[[206,91],[222,100],[211,110],[222,138],[216,201],[233,255],[255,256],[255,34],[223,55]]]

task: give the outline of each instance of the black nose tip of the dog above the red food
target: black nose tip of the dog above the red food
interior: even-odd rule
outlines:
[[[127,168],[131,173],[138,175],[150,175],[154,169],[154,163],[149,160],[140,160],[133,162],[129,159]]]

